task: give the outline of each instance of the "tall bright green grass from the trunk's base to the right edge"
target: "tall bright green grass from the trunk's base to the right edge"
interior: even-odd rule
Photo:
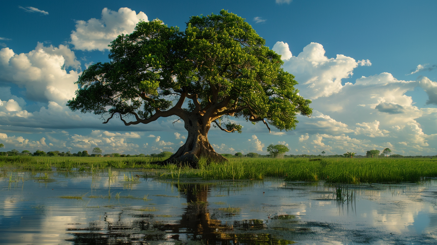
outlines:
[[[229,159],[226,164],[206,164],[201,159],[198,169],[170,168],[166,178],[264,179],[280,177],[288,181],[319,181],[341,183],[418,182],[437,177],[437,161],[428,159]]]

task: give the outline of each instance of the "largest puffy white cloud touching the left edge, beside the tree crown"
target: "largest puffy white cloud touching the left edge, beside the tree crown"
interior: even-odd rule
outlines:
[[[65,45],[44,47],[38,43],[28,53],[16,54],[12,49],[0,49],[0,78],[26,89],[26,98],[38,102],[54,101],[65,104],[75,97],[80,73],[67,70],[78,68],[74,52]]]

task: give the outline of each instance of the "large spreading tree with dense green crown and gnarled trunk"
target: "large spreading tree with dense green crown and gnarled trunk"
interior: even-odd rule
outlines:
[[[298,95],[294,76],[281,68],[281,56],[236,14],[193,16],[184,32],[160,20],[140,21],[110,46],[111,62],[89,66],[67,105],[126,126],[177,116],[188,137],[166,162],[227,161],[209,144],[208,131],[213,124],[240,133],[242,126],[229,117],[262,122],[270,131],[268,123],[292,130],[296,114],[312,114],[311,101]]]

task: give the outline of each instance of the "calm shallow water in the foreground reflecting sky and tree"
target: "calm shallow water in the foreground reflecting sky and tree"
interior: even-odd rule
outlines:
[[[437,244],[421,184],[163,180],[3,172],[0,244]]]

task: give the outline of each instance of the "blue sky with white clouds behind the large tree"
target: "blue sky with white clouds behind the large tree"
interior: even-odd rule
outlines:
[[[226,9],[280,53],[284,70],[312,99],[311,118],[279,132],[243,124],[243,133],[212,129],[219,153],[343,154],[385,147],[394,154],[437,154],[436,1],[9,1],[0,9],[0,141],[6,151],[175,151],[182,124],[101,124],[71,112],[77,76],[108,61],[109,40],[138,19],[185,28],[192,15]],[[63,68],[62,68],[63,67]],[[238,120],[237,120],[238,121]]]

